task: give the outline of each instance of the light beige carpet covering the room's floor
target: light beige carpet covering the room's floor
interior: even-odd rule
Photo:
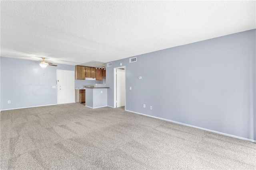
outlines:
[[[82,104],[1,111],[1,170],[256,169],[256,144]]]

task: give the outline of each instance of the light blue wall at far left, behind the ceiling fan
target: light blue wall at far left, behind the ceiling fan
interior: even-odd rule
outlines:
[[[41,68],[30,60],[1,57],[1,109],[57,104],[58,70],[75,70],[75,66],[57,64]],[[10,100],[11,104],[7,104]]]

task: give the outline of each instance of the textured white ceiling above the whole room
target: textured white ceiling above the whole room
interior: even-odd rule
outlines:
[[[1,1],[1,53],[109,62],[256,28],[254,1]],[[93,62],[92,62],[93,61]]]

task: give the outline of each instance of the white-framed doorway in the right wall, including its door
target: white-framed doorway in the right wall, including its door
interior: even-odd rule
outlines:
[[[125,66],[114,68],[114,108],[125,107]]]

